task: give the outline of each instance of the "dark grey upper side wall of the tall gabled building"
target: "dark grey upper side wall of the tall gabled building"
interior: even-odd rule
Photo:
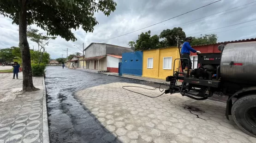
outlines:
[[[106,45],[106,54],[122,55],[122,53],[132,52],[131,48],[124,48],[115,45]]]

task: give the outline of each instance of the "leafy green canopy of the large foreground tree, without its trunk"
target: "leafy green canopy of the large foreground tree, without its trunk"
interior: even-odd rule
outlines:
[[[77,40],[71,29],[93,32],[98,24],[94,13],[102,11],[109,16],[117,5],[113,0],[0,0],[0,14],[10,17],[17,25],[20,1],[25,2],[28,25],[36,24],[47,31],[47,35],[67,41]]]

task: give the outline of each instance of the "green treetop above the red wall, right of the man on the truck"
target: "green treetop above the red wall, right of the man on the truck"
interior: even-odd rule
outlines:
[[[215,44],[217,43],[218,37],[216,34],[205,34],[200,37],[193,37],[191,40],[191,46],[200,44]]]

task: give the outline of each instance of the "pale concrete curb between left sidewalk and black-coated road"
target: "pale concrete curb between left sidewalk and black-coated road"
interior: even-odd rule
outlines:
[[[43,132],[42,132],[42,143],[50,143],[49,132],[48,132],[48,115],[46,107],[46,87],[43,78]]]

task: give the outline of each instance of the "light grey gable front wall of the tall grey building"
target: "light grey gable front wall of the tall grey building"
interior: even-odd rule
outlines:
[[[106,44],[92,44],[84,51],[85,58],[106,55]]]

